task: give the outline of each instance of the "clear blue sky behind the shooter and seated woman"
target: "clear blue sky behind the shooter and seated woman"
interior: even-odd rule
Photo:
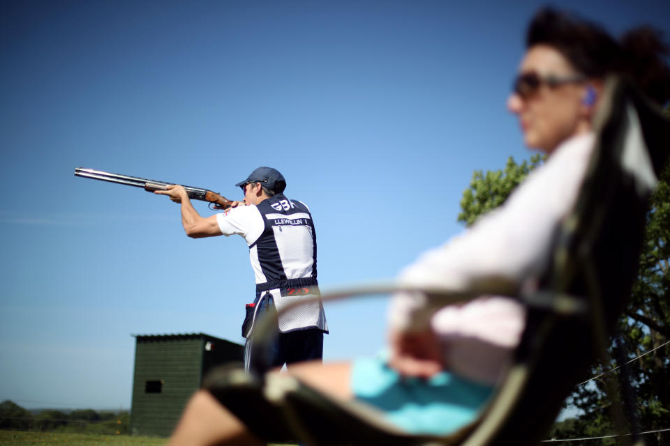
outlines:
[[[670,20],[665,0],[561,4],[617,34]],[[529,156],[505,100],[539,6],[3,1],[0,400],[129,408],[131,334],[242,340],[244,241],[191,240],[165,197],[75,167],[232,199],[275,167],[315,218],[324,291],[392,279],[462,230],[472,171]],[[381,304],[327,318],[326,358],[381,342]]]

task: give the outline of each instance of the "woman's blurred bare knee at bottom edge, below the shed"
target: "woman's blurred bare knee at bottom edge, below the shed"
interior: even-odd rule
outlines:
[[[188,401],[169,446],[265,445],[214,397],[199,390]]]

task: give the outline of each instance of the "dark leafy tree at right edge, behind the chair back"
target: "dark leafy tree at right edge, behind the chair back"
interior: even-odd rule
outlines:
[[[638,279],[630,304],[618,321],[620,339],[613,340],[610,357],[621,355],[632,360],[627,365],[636,397],[636,415],[640,431],[670,428],[670,165],[660,177],[659,187],[650,201],[643,252],[640,256]],[[618,351],[623,348],[623,352]],[[594,376],[617,367],[612,362],[593,368]],[[620,373],[619,370],[614,374]],[[576,388],[567,400],[571,406],[584,411],[579,417],[584,433],[616,431],[609,419],[611,395],[606,392],[604,379],[593,380]],[[635,415],[635,414],[628,414]],[[631,429],[632,426],[626,426]],[[670,445],[669,433],[646,435],[647,445]]]

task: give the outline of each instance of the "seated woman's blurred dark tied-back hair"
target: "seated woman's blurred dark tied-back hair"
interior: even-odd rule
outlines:
[[[583,75],[623,75],[660,104],[670,98],[670,68],[664,61],[669,49],[662,33],[650,26],[639,26],[616,40],[598,24],[543,8],[526,36],[526,47],[540,44],[558,49]]]

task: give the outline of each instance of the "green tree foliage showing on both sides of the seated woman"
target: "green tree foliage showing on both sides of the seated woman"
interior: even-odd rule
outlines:
[[[670,114],[669,114],[670,116]],[[669,148],[670,149],[670,148]],[[542,164],[543,157],[535,155],[530,161],[516,164],[512,157],[505,169],[475,171],[470,187],[463,192],[458,220],[467,226],[489,210],[500,206],[514,187]],[[670,428],[670,164],[660,176],[660,183],[650,200],[643,252],[640,256],[638,279],[632,289],[630,305],[618,321],[618,336],[611,339],[611,364],[593,367],[593,376],[609,371],[620,362],[630,362],[630,376],[636,399],[636,414],[640,431]],[[621,240],[625,243],[625,240]],[[656,350],[654,350],[656,349]],[[621,369],[614,373],[621,373]],[[620,392],[620,389],[618,390]],[[619,397],[619,396],[617,396]],[[575,388],[566,400],[567,406],[579,409],[574,420],[557,424],[553,438],[604,436],[617,432],[611,421],[611,395],[606,393],[604,378],[598,378]],[[623,426],[630,432],[632,426]],[[647,445],[670,445],[670,432],[646,435]],[[600,444],[616,444],[616,439]],[[566,443],[569,444],[569,443]]]

